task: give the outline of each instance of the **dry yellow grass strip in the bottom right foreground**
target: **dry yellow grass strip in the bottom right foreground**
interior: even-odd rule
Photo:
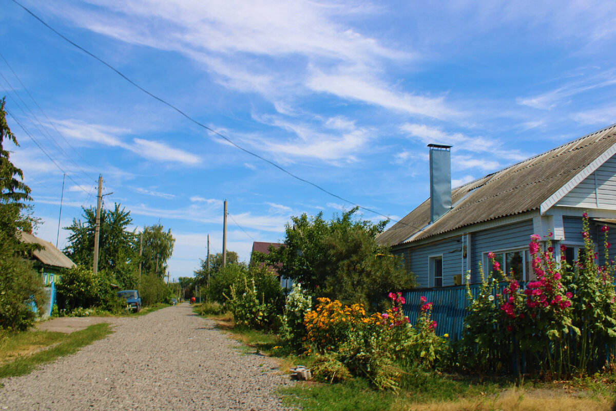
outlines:
[[[455,402],[409,404],[395,401],[392,411],[610,411],[612,399],[581,398],[553,391],[509,390],[496,397],[460,399]]]

